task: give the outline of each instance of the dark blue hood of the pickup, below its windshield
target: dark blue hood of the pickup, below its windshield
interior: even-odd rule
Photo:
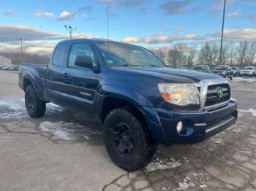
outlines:
[[[201,71],[186,70],[186,69],[170,69],[167,67],[113,67],[112,69],[118,71],[128,71],[132,73],[138,73],[140,75],[147,75],[151,77],[157,77],[159,79],[165,79],[167,81],[175,82],[200,82],[203,79],[217,79],[221,78],[215,74],[208,74]]]

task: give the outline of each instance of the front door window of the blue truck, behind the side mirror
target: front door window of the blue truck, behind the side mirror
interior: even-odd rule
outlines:
[[[88,44],[73,44],[69,54],[69,67],[80,68],[79,66],[75,66],[75,58],[80,55],[89,56],[94,61],[94,53]]]

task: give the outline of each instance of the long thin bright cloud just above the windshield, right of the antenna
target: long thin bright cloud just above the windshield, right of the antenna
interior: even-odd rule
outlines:
[[[121,39],[122,42],[127,43],[145,43],[145,44],[167,44],[175,41],[184,41],[184,40],[197,40],[200,39],[195,33],[189,33],[184,36],[146,36],[146,37],[134,37],[128,36],[124,39]]]

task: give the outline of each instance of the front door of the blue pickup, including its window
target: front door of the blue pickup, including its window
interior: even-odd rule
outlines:
[[[72,43],[67,58],[67,67],[63,70],[66,77],[63,93],[67,96],[68,104],[85,112],[93,113],[99,84],[98,75],[92,69],[75,66],[75,58],[81,55],[89,56],[93,61],[97,61],[89,43]]]

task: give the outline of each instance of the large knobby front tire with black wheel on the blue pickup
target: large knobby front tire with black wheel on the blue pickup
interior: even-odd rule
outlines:
[[[144,124],[127,109],[114,109],[105,119],[105,147],[116,165],[137,171],[154,156],[155,144]]]

